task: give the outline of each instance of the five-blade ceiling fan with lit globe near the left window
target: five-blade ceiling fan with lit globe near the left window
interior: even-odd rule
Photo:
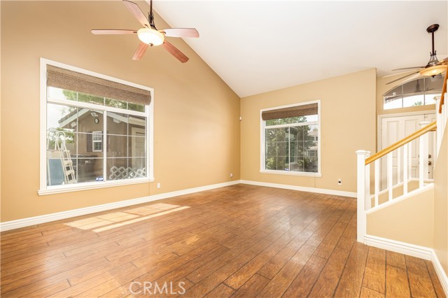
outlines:
[[[92,34],[137,34],[140,40],[140,44],[134,53],[133,60],[139,60],[146,52],[148,46],[162,45],[165,50],[172,54],[180,62],[185,63],[188,61],[188,57],[183,54],[178,48],[169,43],[165,36],[169,37],[199,37],[199,33],[195,28],[167,28],[158,30],[154,24],[153,15],[153,0],[146,0],[150,5],[150,12],[148,14],[148,20],[141,11],[139,6],[128,0],[123,0],[123,3],[130,10],[132,15],[143,26],[138,30],[128,29],[93,29]]]

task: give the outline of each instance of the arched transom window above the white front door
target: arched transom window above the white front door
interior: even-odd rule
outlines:
[[[435,104],[442,95],[443,77],[418,78],[394,87],[383,95],[384,110]]]

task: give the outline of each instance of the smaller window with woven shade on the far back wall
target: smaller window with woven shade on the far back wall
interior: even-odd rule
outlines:
[[[261,111],[261,172],[320,176],[320,101]]]

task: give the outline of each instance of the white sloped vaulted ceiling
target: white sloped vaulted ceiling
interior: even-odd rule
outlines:
[[[155,1],[239,97],[377,68],[387,76],[448,53],[447,1]],[[142,5],[141,5],[142,6]],[[147,9],[143,7],[142,9]]]

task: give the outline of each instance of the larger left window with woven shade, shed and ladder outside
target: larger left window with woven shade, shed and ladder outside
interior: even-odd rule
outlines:
[[[153,90],[42,59],[39,194],[153,180]]]

